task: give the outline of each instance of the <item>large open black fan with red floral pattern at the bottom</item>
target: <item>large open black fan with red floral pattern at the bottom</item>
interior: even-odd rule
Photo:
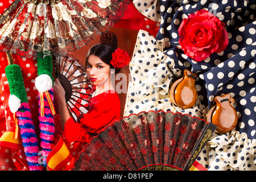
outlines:
[[[73,170],[188,170],[215,129],[188,114],[131,114],[98,133]]]

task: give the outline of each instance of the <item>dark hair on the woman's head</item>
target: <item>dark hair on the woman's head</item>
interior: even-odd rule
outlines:
[[[115,69],[113,65],[110,63],[112,60],[112,53],[115,51],[115,48],[113,46],[110,46],[109,44],[96,44],[92,46],[86,56],[85,64],[87,64],[87,61],[89,59],[90,55],[95,55],[100,57],[100,59],[108,64],[110,66],[110,69]],[[115,73],[118,73],[120,69],[115,69]]]

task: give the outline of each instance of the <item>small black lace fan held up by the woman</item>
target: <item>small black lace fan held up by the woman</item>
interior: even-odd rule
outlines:
[[[68,109],[75,121],[93,108],[92,93],[94,87],[90,82],[84,65],[73,55],[53,55],[56,78],[65,89]]]

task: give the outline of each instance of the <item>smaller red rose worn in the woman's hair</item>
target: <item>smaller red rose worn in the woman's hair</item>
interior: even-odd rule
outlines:
[[[112,60],[110,63],[114,68],[123,68],[130,62],[130,56],[127,52],[122,49],[115,49],[115,52],[112,53]]]

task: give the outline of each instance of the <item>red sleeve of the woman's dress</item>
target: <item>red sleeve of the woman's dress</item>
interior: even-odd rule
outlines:
[[[102,93],[95,97],[93,110],[84,114],[80,123],[69,118],[65,123],[63,137],[67,140],[89,142],[98,131],[119,119],[120,101],[116,93]]]

